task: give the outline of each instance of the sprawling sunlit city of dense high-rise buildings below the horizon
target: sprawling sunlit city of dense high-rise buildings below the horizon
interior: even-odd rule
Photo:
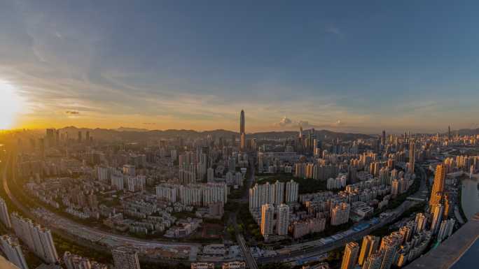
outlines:
[[[477,134],[239,122],[4,131],[2,252],[20,269],[408,268],[474,218]]]

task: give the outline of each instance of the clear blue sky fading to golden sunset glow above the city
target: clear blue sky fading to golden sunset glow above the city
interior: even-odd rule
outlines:
[[[479,128],[478,8],[2,0],[0,114],[11,128],[237,130],[242,109],[247,132]]]

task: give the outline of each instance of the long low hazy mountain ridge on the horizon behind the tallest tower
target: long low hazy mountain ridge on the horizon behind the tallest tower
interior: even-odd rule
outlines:
[[[234,131],[228,131],[223,129],[212,130],[212,131],[194,131],[194,130],[146,130],[146,129],[137,129],[137,128],[128,128],[120,127],[118,129],[86,129],[86,128],[77,128],[75,126],[68,126],[60,131],[67,132],[70,138],[76,138],[78,136],[78,131],[83,133],[83,137],[87,131],[90,132],[90,136],[99,140],[148,140],[148,139],[167,139],[167,138],[176,138],[176,137],[190,137],[190,138],[201,138],[205,136],[214,136],[215,138],[231,138],[232,136],[239,136],[240,134]],[[306,136],[309,133],[308,130],[303,131]],[[328,130],[317,130],[314,131],[317,138],[321,140],[333,140],[340,138],[341,140],[355,140],[358,138],[368,139],[372,136],[361,133],[338,133]],[[285,139],[285,138],[296,138],[298,137],[298,131],[270,131],[270,132],[259,132],[259,133],[248,133],[248,138],[257,138],[260,140],[271,140],[271,139]]]

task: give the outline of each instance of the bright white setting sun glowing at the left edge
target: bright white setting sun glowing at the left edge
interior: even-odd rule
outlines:
[[[0,80],[0,129],[9,129],[20,111],[21,99],[15,87]]]

